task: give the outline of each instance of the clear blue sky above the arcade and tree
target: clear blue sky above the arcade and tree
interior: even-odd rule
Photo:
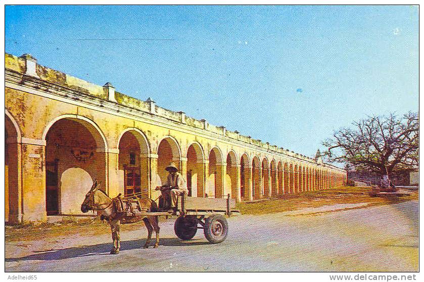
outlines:
[[[353,120],[418,111],[417,7],[5,12],[7,53],[307,156]]]

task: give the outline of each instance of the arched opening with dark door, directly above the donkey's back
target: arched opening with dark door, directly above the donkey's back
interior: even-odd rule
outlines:
[[[125,131],[119,139],[118,189],[124,195],[149,193],[149,145],[143,133]],[[123,189],[123,191],[122,191]]]

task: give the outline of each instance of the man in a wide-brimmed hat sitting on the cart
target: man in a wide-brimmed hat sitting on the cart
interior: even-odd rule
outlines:
[[[174,212],[175,206],[177,204],[178,196],[185,193],[189,193],[187,190],[187,185],[185,184],[184,178],[178,172],[178,168],[174,163],[170,163],[166,168],[166,171],[169,172],[168,178],[162,186],[156,186],[156,190],[160,190],[162,193],[162,198],[164,200],[164,210],[168,212]]]

